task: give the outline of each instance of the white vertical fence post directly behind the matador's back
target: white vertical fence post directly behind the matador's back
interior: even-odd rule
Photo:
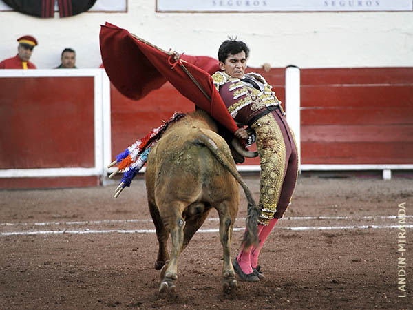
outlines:
[[[297,142],[298,165],[301,164],[301,95],[300,71],[295,65],[286,68],[286,118]]]

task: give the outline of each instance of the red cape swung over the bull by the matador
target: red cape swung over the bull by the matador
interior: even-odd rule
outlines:
[[[169,54],[135,39],[125,29],[110,23],[102,25],[100,53],[110,81],[128,98],[141,99],[169,81],[182,95],[207,111],[230,132],[238,129],[210,76],[219,69],[215,59],[182,56],[182,59],[188,61],[184,63],[185,68],[209,95],[209,101],[179,64],[171,68]]]

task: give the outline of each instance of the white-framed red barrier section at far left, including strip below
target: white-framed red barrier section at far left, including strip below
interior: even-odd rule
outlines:
[[[94,167],[93,77],[3,77],[0,98],[0,169]],[[96,176],[0,179],[0,188],[97,184]]]

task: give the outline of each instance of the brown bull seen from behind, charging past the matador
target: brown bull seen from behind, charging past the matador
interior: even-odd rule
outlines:
[[[169,125],[151,149],[145,173],[149,210],[159,242],[155,268],[161,269],[159,291],[175,291],[178,256],[207,218],[211,208],[220,218],[224,252],[222,289],[237,289],[230,243],[238,212],[239,187],[248,200],[244,242],[257,242],[259,210],[238,174],[230,149],[208,114],[197,111]],[[167,240],[171,234],[171,255]],[[169,260],[169,261],[168,261]]]

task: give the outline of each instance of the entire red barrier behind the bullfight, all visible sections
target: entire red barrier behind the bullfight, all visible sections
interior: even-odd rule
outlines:
[[[284,105],[284,68],[253,71]],[[2,77],[0,101],[0,169],[94,167],[93,77]],[[169,83],[140,101],[112,86],[111,104],[112,157],[173,112],[194,109]],[[302,164],[412,164],[412,154],[413,68],[301,70]],[[98,183],[98,176],[0,178],[0,188]]]

